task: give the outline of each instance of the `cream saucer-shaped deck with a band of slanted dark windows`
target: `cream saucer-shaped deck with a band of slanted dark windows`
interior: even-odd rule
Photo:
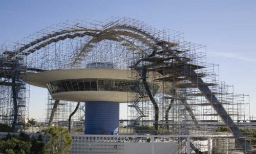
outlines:
[[[27,83],[45,87],[54,99],[126,103],[127,92],[135,93],[131,70],[51,70],[27,74]]]

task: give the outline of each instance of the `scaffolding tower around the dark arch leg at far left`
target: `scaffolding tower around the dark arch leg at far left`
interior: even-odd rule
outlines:
[[[6,42],[1,51],[11,54],[15,45]],[[0,123],[10,125],[13,131],[22,131],[28,118],[29,89],[22,79],[25,70],[23,56],[9,59],[0,55]]]

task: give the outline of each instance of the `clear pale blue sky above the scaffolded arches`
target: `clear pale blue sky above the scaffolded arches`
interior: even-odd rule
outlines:
[[[207,62],[220,64],[220,79],[250,95],[256,117],[256,1],[0,1],[0,43],[20,40],[67,20],[136,18],[157,29],[185,33],[207,46]],[[47,90],[31,87],[30,117],[44,113]],[[122,108],[123,109],[123,108]],[[126,114],[126,111],[123,111]]]

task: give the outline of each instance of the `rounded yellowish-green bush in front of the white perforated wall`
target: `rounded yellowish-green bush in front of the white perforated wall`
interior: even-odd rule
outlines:
[[[44,146],[45,154],[68,154],[72,148],[73,140],[68,129],[59,126],[43,130],[47,143]]]

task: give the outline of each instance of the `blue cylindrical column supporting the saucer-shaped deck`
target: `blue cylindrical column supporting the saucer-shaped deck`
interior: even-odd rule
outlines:
[[[85,134],[118,135],[119,103],[108,101],[86,102],[85,124]]]

